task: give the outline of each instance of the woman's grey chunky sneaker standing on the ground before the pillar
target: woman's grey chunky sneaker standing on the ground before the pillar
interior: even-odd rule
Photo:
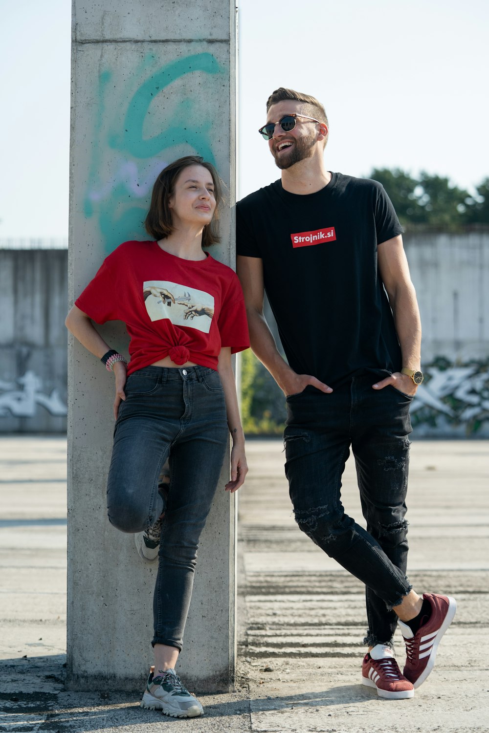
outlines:
[[[172,718],[197,718],[204,715],[204,708],[183,686],[174,669],[167,669],[158,677],[150,673],[141,707],[161,710],[163,715],[171,715]]]

